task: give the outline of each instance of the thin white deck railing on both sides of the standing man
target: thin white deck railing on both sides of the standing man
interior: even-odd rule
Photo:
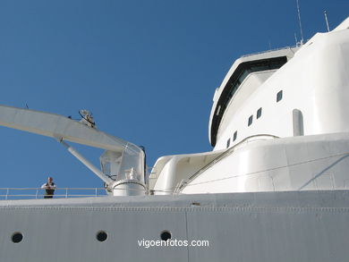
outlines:
[[[45,189],[41,188],[0,188],[1,200],[43,199],[44,196]],[[59,188],[55,190],[53,198],[98,198],[104,196],[106,196],[106,189],[104,188]]]

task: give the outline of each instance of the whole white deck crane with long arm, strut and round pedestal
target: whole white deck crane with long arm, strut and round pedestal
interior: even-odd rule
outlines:
[[[114,195],[147,193],[144,151],[128,141],[63,115],[13,106],[0,106],[0,125],[56,139],[83,165],[106,182],[107,189],[113,190]],[[102,171],[66,141],[106,149],[100,157]]]

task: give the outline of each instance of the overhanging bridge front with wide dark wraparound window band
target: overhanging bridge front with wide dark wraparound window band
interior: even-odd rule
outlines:
[[[237,59],[215,91],[209,116],[209,141],[216,146],[219,133],[226,130],[230,117],[243,106],[260,85],[294,57],[297,46],[270,50]]]

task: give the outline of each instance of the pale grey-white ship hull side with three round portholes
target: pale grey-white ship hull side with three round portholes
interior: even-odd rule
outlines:
[[[0,261],[347,261],[349,190],[0,202]],[[100,242],[96,234],[107,233]],[[209,241],[140,247],[138,241]],[[21,243],[13,243],[21,232]]]

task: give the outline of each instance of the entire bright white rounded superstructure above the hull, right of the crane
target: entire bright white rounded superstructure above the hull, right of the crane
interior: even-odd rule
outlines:
[[[214,150],[159,158],[155,191],[346,189],[348,24],[299,47],[238,59],[213,98]]]

